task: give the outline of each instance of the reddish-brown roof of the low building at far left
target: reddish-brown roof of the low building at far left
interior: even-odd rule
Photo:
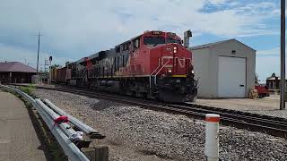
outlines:
[[[35,72],[36,69],[20,62],[0,62],[0,72]]]

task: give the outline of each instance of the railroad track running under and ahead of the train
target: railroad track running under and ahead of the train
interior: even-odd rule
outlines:
[[[127,97],[118,94],[110,94],[107,92],[95,91],[92,89],[81,88],[47,88],[37,87],[39,89],[49,89],[74,93],[86,97],[96,97],[109,99],[111,101],[141,106],[143,108],[161,110],[174,114],[186,114],[199,119],[204,119],[205,114],[220,114],[221,123],[224,125],[232,125],[238,128],[247,129],[250,131],[265,132],[273,136],[287,138],[287,119],[273,117],[263,114],[252,114],[240,112],[236,110],[222,109],[211,106],[198,106],[195,104],[168,104],[155,100],[147,100],[137,97]]]

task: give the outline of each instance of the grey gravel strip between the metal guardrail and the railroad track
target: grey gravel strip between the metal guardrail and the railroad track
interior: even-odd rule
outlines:
[[[67,113],[90,124],[107,138],[109,160],[204,160],[204,122],[108,100],[35,89]],[[286,160],[286,140],[259,132],[222,126],[222,160]]]

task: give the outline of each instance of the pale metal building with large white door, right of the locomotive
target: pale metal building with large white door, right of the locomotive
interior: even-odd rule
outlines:
[[[229,39],[190,50],[198,80],[198,97],[248,97],[255,85],[255,49]]]

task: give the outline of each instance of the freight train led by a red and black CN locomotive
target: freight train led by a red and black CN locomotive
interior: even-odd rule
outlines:
[[[56,81],[165,102],[195,101],[192,54],[182,43],[175,33],[145,31],[57,69]]]

